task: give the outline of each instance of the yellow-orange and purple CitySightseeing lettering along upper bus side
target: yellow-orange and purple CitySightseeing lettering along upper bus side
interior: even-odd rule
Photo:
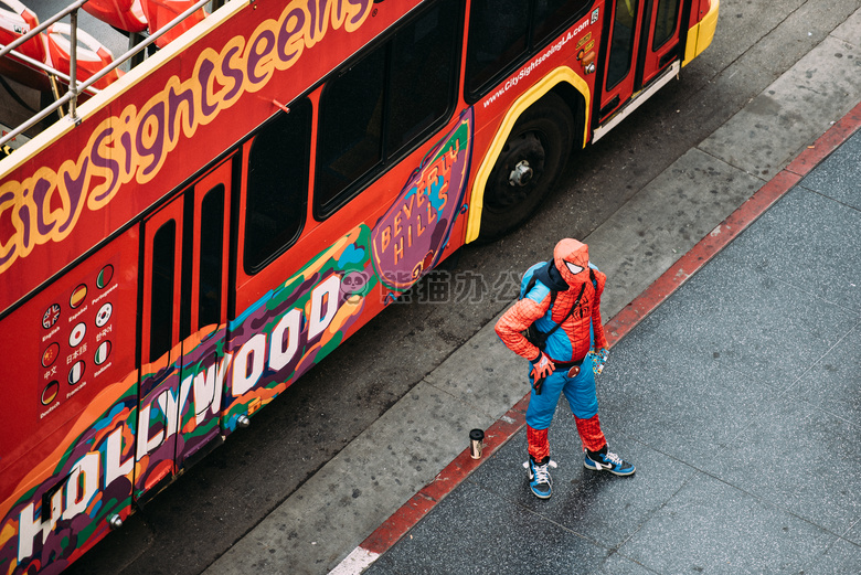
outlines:
[[[220,52],[204,50],[184,79],[172,76],[139,109],[127,106],[93,130],[77,159],[59,170],[42,167],[0,187],[0,274],[38,245],[62,242],[86,207],[97,211],[124,184],[145,184],[161,170],[180,139],[191,138],[245,93],[262,89],[276,71],[294,66],[330,30],[354,32],[372,0],[294,0],[278,20],[237,35]]]

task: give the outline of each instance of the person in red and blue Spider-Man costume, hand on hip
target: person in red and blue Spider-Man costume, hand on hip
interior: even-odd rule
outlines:
[[[553,249],[553,260],[529,268],[523,285],[535,277],[528,294],[509,308],[496,324],[497,334],[518,355],[530,362],[532,393],[527,409],[527,443],[530,489],[542,499],[551,496],[548,466],[548,429],[560,394],[564,393],[584,448],[584,466],[617,476],[634,473],[635,467],[607,449],[598,420],[595,374],[604,369],[607,338],[600,321],[600,296],[607,276],[589,263],[588,246],[565,238]],[[552,291],[556,292],[551,306]],[[543,349],[522,332],[530,326],[548,333]]]

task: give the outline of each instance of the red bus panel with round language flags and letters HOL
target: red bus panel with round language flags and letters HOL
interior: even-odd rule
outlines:
[[[132,228],[3,320],[2,573],[67,565],[129,513],[137,251]]]

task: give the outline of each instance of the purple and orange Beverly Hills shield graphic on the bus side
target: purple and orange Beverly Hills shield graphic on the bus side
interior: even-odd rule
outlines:
[[[471,142],[472,108],[468,108],[374,226],[374,267],[389,288],[408,289],[439,260],[469,178]]]

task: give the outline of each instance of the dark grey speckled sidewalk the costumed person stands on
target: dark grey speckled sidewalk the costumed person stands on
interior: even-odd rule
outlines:
[[[365,573],[861,573],[861,131],[775,185],[613,348],[602,422],[635,476],[583,468],[563,401],[550,500],[520,428]]]

